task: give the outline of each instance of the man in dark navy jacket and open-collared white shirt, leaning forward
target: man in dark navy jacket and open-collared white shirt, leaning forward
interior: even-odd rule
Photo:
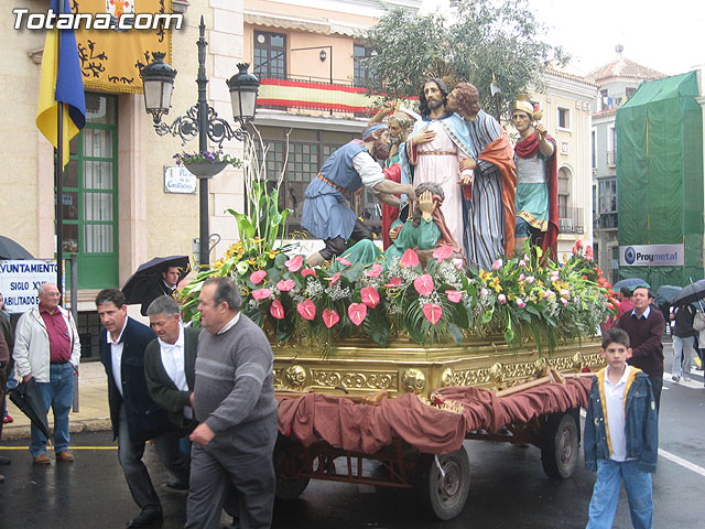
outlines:
[[[180,483],[188,482],[188,463],[178,450],[178,433],[166,411],[150,397],[144,379],[144,348],[155,338],[147,325],[128,317],[124,295],[101,290],[96,298],[100,361],[108,375],[108,399],[118,458],[132,498],[142,511],[128,527],[148,527],[162,520],[162,507],[142,462],[144,444],[154,440],[159,457]]]

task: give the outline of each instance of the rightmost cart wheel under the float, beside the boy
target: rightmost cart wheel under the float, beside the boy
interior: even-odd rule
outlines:
[[[552,413],[542,431],[541,463],[554,479],[573,475],[578,460],[578,427],[570,413]]]

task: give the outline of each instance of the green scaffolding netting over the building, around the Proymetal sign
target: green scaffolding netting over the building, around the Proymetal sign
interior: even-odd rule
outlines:
[[[619,246],[685,247],[684,267],[620,267],[652,289],[703,278],[703,114],[696,72],[642,83],[617,110]]]

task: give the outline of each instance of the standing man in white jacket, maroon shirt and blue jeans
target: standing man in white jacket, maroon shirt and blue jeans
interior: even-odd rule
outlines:
[[[13,357],[18,375],[25,382],[39,384],[48,413],[54,410],[54,452],[57,461],[74,461],[68,451],[68,412],[74,402],[74,373],[80,359],[80,339],[76,322],[61,306],[61,294],[54,283],[39,288],[39,306],[22,314],[14,336]],[[30,453],[34,463],[48,465],[46,438],[32,424]]]

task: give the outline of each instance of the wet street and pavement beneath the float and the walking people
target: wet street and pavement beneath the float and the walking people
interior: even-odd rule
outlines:
[[[665,347],[670,370],[671,347]],[[703,371],[690,385],[664,375],[660,417],[660,457],[654,475],[654,527],[705,527],[702,490],[705,487]],[[119,528],[138,514],[117,461],[112,435],[93,432],[109,425],[105,374],[100,364],[82,365],[80,411],[72,422],[80,433],[72,438],[74,463],[35,466],[28,441],[3,435],[0,455],[12,464],[0,466],[0,527]],[[8,431],[21,432],[21,413]],[[89,417],[93,415],[93,417]],[[51,415],[50,415],[51,418]],[[102,427],[100,427],[102,425]],[[8,424],[6,424],[8,427]],[[26,428],[26,425],[24,427]],[[4,433],[4,432],[3,432]],[[546,478],[540,451],[533,446],[468,441],[470,495],[458,518],[441,522],[423,512],[406,492],[376,492],[370,486],[311,482],[302,496],[278,504],[272,527],[282,529],[345,528],[583,528],[595,475],[581,461],[566,481]],[[167,492],[169,476],[153,446],[145,455],[162,498],[164,529],[183,527],[185,495]],[[225,520],[225,519],[224,519]],[[629,528],[625,493],[615,528]]]

